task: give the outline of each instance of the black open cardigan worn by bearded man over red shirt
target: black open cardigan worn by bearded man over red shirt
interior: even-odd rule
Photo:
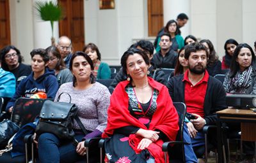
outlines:
[[[173,102],[185,103],[185,81],[182,81],[183,78],[184,74],[180,74],[179,76],[172,77],[167,83],[169,94],[172,97]],[[221,81],[209,76],[204,99],[204,113],[207,125],[216,125],[216,111],[227,108],[225,97],[226,92]]]

